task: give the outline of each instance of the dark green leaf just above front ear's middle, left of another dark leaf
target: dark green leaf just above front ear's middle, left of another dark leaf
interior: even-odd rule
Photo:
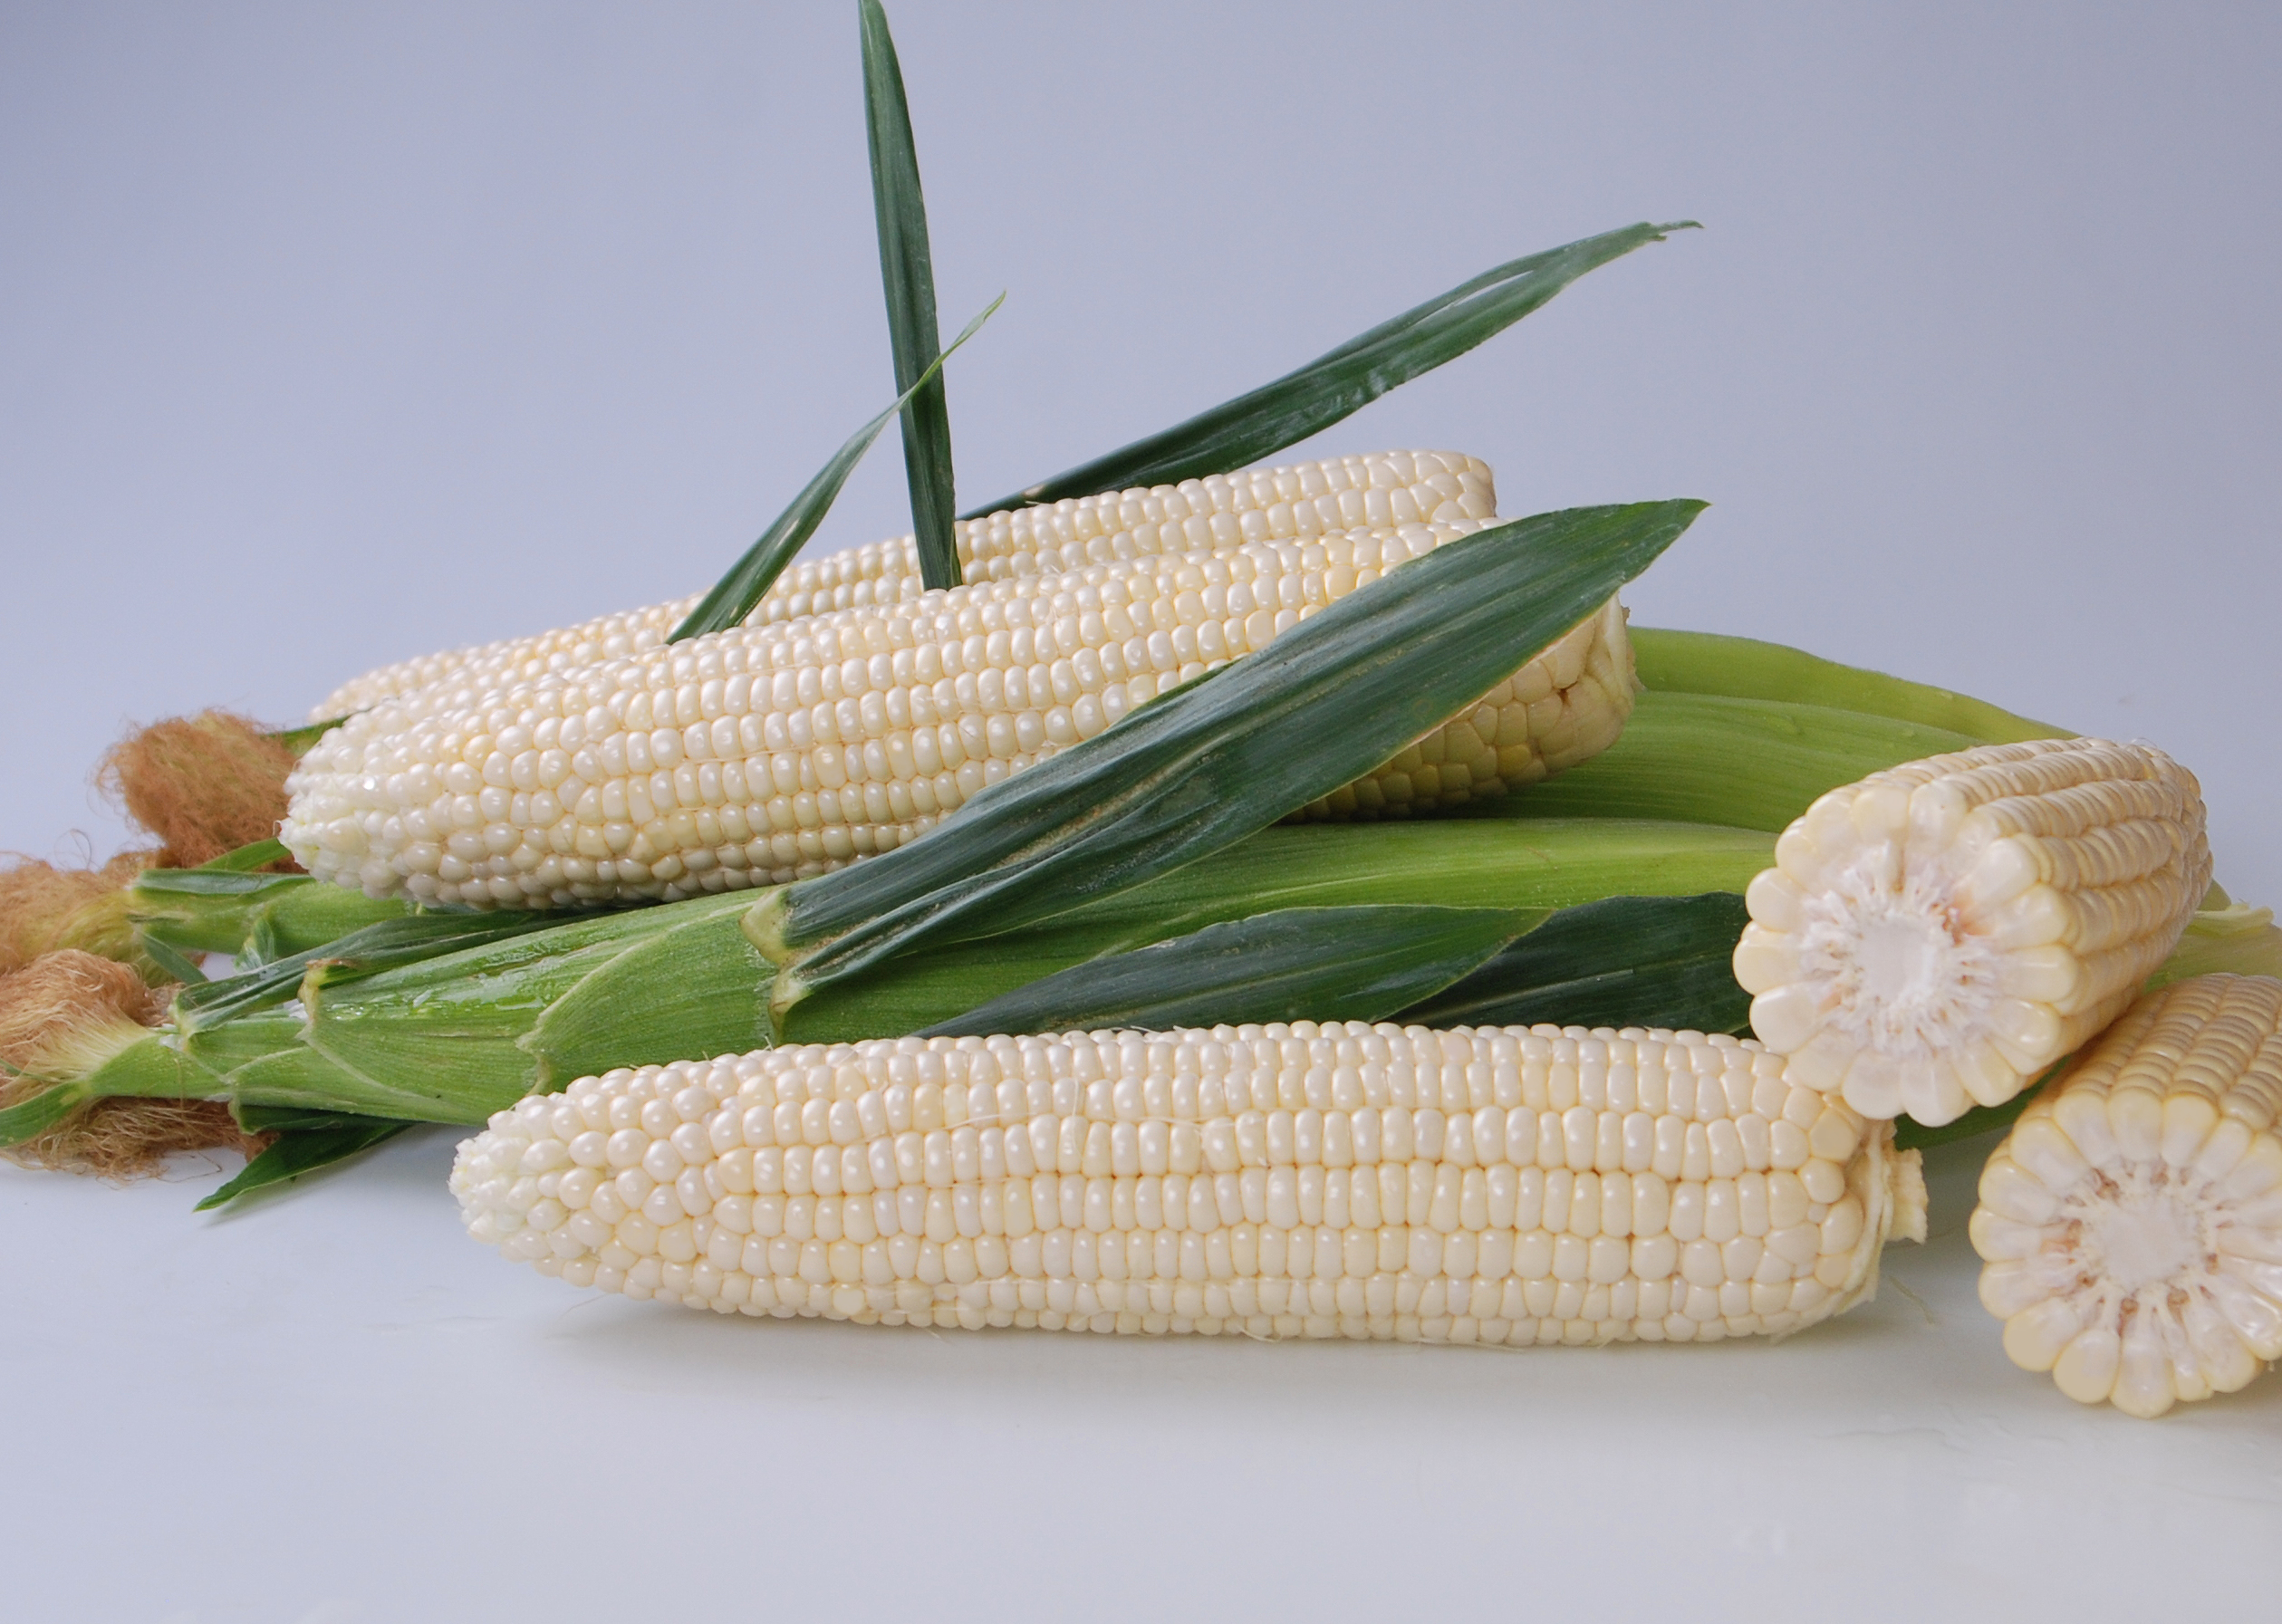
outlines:
[[[1543,917],[1399,903],[1278,908],[1073,965],[920,1036],[1376,1022],[1476,972]]]

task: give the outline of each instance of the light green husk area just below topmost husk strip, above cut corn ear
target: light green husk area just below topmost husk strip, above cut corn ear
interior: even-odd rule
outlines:
[[[1467,807],[1481,817],[1634,817],[1780,833],[1816,796],[1976,739],[1924,723],[1766,698],[1634,700],[1616,744],[1559,778]]]

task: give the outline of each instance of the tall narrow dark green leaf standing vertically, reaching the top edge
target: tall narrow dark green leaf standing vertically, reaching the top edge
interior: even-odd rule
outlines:
[[[920,151],[911,139],[904,68],[895,59],[888,14],[858,0],[863,23],[863,109],[872,148],[872,212],[879,217],[879,278],[888,292],[888,340],[895,388],[904,390],[904,477],[911,481],[911,531],[920,582],[929,591],[958,586],[952,518],[952,408],[936,360],[936,262],[926,246],[926,198]]]

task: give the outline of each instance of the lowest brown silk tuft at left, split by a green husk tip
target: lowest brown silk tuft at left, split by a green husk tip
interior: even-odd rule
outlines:
[[[171,988],[73,947],[0,974],[0,1106],[37,1095],[55,1061],[105,1026],[157,1026]],[[219,1099],[96,1099],[39,1138],[0,1150],[25,1168],[128,1179],[157,1172],[180,1150],[256,1154]]]

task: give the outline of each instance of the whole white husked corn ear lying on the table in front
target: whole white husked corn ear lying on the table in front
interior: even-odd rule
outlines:
[[[883,1325],[1486,1343],[1789,1332],[1915,1152],[1734,1038],[1294,1022],[796,1045],[491,1118],[468,1232],[580,1286]]]

